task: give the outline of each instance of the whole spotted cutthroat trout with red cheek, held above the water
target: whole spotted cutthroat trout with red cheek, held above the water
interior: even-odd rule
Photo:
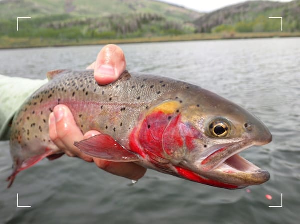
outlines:
[[[261,184],[269,173],[238,153],[264,145],[267,127],[240,106],[183,81],[125,71],[106,86],[92,70],[48,72],[49,82],[20,107],[12,122],[10,151],[16,174],[63,153],[50,140],[48,117],[57,104],[70,108],[85,133],[84,153],[135,162],[187,180],[228,189]]]

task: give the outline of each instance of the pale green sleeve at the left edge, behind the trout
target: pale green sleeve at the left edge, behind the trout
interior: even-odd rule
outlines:
[[[27,79],[0,75],[0,140],[9,139],[9,124],[28,96],[47,79]]]

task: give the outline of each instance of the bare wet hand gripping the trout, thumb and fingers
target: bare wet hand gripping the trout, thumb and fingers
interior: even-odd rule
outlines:
[[[114,82],[125,70],[126,61],[122,49],[116,45],[109,44],[102,48],[94,63],[87,69],[94,69],[95,80],[99,84]],[[133,162],[111,162],[91,157],[81,152],[74,146],[75,141],[81,141],[93,135],[100,134],[98,131],[88,131],[84,135],[77,126],[74,117],[65,105],[59,104],[54,107],[49,116],[49,136],[51,140],[65,154],[71,157],[79,157],[87,162],[95,164],[112,174],[138,180],[146,172],[146,168]]]

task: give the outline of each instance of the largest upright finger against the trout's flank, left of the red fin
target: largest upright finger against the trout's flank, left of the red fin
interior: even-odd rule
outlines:
[[[56,125],[57,139],[53,142],[68,156],[78,156],[81,159],[92,162],[92,157],[81,152],[76,146],[75,141],[81,141],[83,134],[77,126],[69,108],[65,105],[57,105],[53,109]],[[60,141],[60,142],[59,142]]]

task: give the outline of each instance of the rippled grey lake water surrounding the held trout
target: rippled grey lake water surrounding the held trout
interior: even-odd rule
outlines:
[[[127,69],[196,83],[245,107],[273,141],[244,157],[270,172],[240,190],[193,183],[148,170],[135,185],[94,164],[63,156],[11,173],[0,142],[0,224],[298,224],[300,218],[300,38],[120,45]],[[102,46],[0,50],[0,73],[45,78],[48,70],[82,69]],[[30,208],[17,208],[31,205]],[[281,205],[283,207],[269,207]],[[272,200],[266,199],[270,194]]]

